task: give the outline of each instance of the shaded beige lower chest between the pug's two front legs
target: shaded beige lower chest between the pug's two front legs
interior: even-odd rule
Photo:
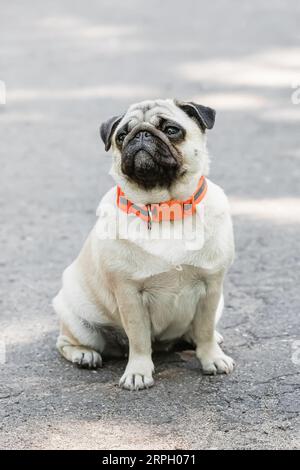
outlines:
[[[185,265],[146,279],[142,295],[153,337],[171,340],[189,330],[205,286],[199,271]]]

